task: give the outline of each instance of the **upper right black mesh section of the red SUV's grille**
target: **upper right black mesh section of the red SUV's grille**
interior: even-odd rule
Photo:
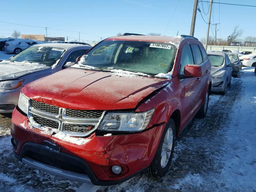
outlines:
[[[103,111],[66,109],[66,116],[76,117],[76,118],[100,118],[102,113],[103,113]]]

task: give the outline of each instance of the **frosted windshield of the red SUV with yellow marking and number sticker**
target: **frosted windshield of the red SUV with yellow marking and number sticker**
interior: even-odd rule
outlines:
[[[149,75],[172,70],[176,47],[165,43],[141,41],[103,41],[78,64],[97,68],[121,69]]]

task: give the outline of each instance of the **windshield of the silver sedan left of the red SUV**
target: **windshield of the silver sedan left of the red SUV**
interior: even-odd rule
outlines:
[[[10,61],[26,61],[30,63],[39,63],[52,66],[53,64],[56,64],[64,52],[65,49],[62,48],[34,46],[20,52],[20,54],[11,58]]]

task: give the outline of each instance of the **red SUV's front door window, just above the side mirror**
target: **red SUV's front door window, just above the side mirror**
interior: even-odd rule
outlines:
[[[184,74],[184,67],[186,65],[194,65],[194,59],[190,45],[186,45],[182,50],[180,61],[180,74]]]

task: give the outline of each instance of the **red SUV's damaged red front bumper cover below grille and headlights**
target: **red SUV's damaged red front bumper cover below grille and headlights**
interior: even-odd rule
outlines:
[[[49,150],[57,149],[60,153],[83,160],[100,181],[92,182],[105,185],[101,182],[110,182],[111,184],[118,180],[124,181],[147,168],[154,158],[164,126],[165,124],[162,124],[137,134],[96,136],[94,133],[85,138],[87,140],[85,144],[77,145],[43,134],[42,130],[37,128],[30,129],[28,118],[15,109],[11,134],[18,141],[17,146],[13,149],[16,156],[22,153],[26,143],[50,146]],[[114,165],[122,167],[123,171],[120,175],[112,173],[111,167]]]

